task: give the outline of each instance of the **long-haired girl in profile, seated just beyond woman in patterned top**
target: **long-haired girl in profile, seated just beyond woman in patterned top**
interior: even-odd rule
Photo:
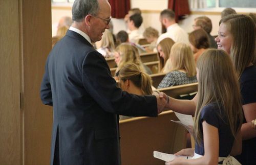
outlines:
[[[169,62],[169,55],[172,46],[175,44],[171,38],[165,38],[161,40],[157,45],[158,59],[160,61],[161,73],[168,73],[172,67],[172,63]]]

